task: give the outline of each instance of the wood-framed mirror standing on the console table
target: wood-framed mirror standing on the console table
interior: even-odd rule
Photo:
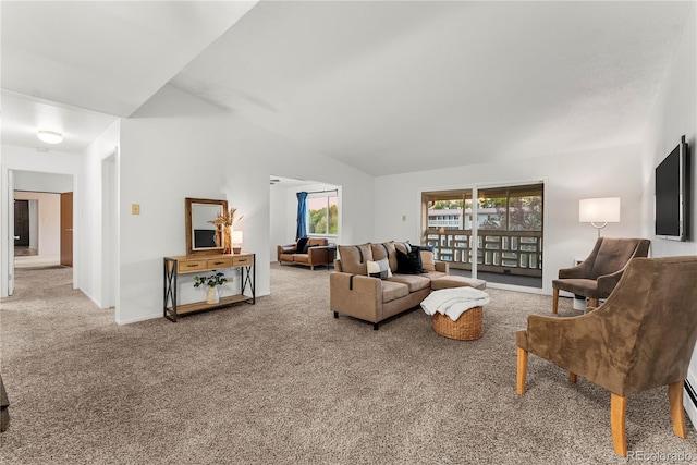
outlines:
[[[186,255],[222,254],[222,230],[213,221],[228,211],[228,200],[186,197],[184,201]]]

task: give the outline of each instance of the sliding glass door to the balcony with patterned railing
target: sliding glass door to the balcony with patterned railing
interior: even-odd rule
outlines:
[[[543,205],[542,184],[425,192],[424,243],[454,274],[541,287]]]

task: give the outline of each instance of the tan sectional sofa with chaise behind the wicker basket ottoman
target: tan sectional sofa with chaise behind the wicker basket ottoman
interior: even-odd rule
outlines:
[[[430,250],[419,249],[425,272],[404,273],[400,268],[398,253],[407,253],[404,243],[340,245],[339,259],[334,260],[334,272],[329,276],[330,309],[334,318],[340,314],[378,323],[402,311],[418,306],[431,291],[437,289],[473,286],[486,289],[486,281],[448,274],[445,261],[433,260]],[[416,254],[412,254],[415,256]],[[391,277],[368,276],[368,261],[374,264],[384,259],[389,264]]]

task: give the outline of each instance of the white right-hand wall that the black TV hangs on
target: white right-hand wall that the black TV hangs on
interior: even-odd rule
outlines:
[[[661,94],[653,107],[650,123],[641,147],[643,163],[643,221],[647,237],[652,237],[651,248],[656,257],[697,255],[697,7],[686,21],[683,36]],[[656,238],[653,235],[655,168],[685,135],[692,157],[692,222],[689,240],[675,242]],[[697,389],[697,347],[693,352],[687,380]],[[697,425],[697,405],[688,396],[684,400],[693,425]]]

